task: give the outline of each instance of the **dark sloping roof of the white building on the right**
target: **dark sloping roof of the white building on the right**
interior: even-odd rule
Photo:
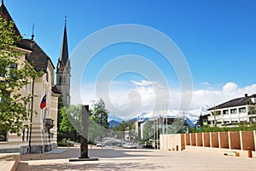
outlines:
[[[217,110],[217,109],[223,109],[228,107],[235,107],[240,105],[248,105],[249,102],[252,101],[252,98],[255,98],[256,94],[253,94],[251,96],[247,96],[247,94],[244,97],[237,98],[234,100],[230,100],[227,102],[224,102],[223,104],[213,106],[212,108],[208,109],[207,111]]]

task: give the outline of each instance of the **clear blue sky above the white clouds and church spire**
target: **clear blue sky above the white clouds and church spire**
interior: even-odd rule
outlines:
[[[26,37],[31,36],[34,23],[35,40],[54,64],[61,50],[65,15],[70,53],[95,31],[108,26],[137,24],[161,31],[177,44],[189,65],[195,91],[222,92],[227,83],[233,83],[231,87],[235,86],[240,94],[224,96],[226,99],[246,91],[255,92],[255,89],[248,89],[255,84],[254,0],[45,0],[37,3],[6,0],[4,3]],[[158,52],[134,43],[116,44],[96,54],[82,82],[93,83],[102,66],[125,54],[144,56],[161,69],[171,87],[178,86],[175,71],[164,58],[156,57],[160,55]],[[116,81],[131,83],[131,80],[142,82],[143,79],[130,73],[117,77]]]

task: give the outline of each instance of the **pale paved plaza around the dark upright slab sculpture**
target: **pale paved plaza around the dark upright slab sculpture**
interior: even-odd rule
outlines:
[[[26,154],[18,171],[44,170],[256,170],[256,158],[230,157],[197,151],[158,151],[143,149],[102,149],[93,147],[90,157],[99,161],[69,162],[79,157],[79,148],[62,148],[55,153]]]

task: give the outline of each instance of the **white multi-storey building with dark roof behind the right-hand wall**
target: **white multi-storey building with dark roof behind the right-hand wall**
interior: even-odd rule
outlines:
[[[229,100],[208,109],[211,126],[230,126],[237,123],[256,122],[256,94]]]

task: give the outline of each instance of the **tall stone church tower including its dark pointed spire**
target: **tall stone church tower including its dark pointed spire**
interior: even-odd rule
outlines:
[[[67,46],[67,19],[65,17],[65,26],[63,41],[61,47],[61,55],[57,65],[56,72],[56,86],[61,92],[63,105],[70,105],[70,77],[71,68],[70,60],[68,59],[68,46]]]

